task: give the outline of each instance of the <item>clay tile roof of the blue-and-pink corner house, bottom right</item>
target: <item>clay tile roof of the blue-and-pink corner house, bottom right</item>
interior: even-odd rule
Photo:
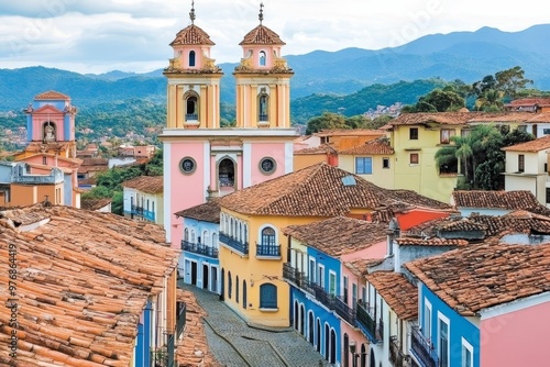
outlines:
[[[471,246],[405,267],[462,315],[550,291],[550,244]]]

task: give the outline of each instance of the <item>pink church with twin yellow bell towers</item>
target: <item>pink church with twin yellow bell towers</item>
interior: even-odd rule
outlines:
[[[215,43],[195,24],[176,34],[174,57],[164,69],[167,126],[164,148],[165,229],[167,242],[183,237],[175,212],[293,171],[290,78],[280,57],[285,43],[262,24],[244,35],[237,79],[234,127],[220,125],[222,70],[210,58]],[[228,30],[229,31],[229,30]],[[231,30],[233,31],[233,30]]]

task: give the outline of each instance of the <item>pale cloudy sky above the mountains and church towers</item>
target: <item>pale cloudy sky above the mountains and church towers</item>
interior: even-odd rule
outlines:
[[[539,0],[262,0],[263,24],[283,55],[395,47],[420,36],[548,23]],[[218,64],[238,63],[258,24],[260,0],[196,0],[195,24]],[[0,0],[0,68],[43,65],[77,73],[148,73],[168,65],[169,43],[190,24],[191,1]]]

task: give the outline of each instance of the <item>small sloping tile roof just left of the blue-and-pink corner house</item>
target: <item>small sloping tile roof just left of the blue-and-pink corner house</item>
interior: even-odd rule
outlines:
[[[394,271],[375,271],[365,278],[399,319],[418,318],[418,288],[403,275]]]

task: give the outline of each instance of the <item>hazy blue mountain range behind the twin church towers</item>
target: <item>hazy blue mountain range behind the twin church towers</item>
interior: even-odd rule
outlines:
[[[346,96],[371,85],[391,85],[419,79],[460,79],[466,84],[484,76],[520,66],[534,88],[550,90],[550,48],[546,47],[550,24],[520,32],[482,27],[475,32],[453,32],[420,37],[403,46],[378,51],[345,48],[288,55],[294,69],[293,101],[315,93]],[[232,71],[238,64],[220,64],[221,101],[234,104]],[[0,69],[0,111],[24,108],[45,90],[72,97],[75,105],[94,105],[132,98],[165,102],[166,79],[162,69],[147,74],[113,70],[101,75],[77,74],[41,66]],[[414,103],[416,100],[400,100]],[[372,105],[371,105],[372,107]],[[376,105],[374,105],[375,108]],[[365,105],[367,110],[370,105]]]

